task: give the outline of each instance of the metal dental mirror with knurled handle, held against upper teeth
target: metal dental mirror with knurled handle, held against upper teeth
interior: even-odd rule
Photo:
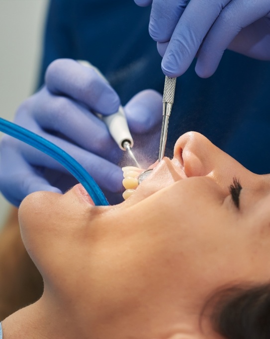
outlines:
[[[169,76],[166,75],[163,92],[163,120],[160,136],[159,162],[162,160],[162,158],[164,158],[165,154],[169,118],[172,112],[172,107],[175,99],[175,91],[176,91],[176,78],[170,78]],[[143,171],[138,177],[139,184],[144,179],[146,179],[151,174],[152,171],[153,171],[152,169]]]

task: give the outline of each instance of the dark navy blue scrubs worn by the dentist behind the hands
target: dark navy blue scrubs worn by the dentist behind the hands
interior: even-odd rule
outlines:
[[[148,34],[150,7],[133,0],[52,0],[39,85],[57,58],[88,60],[125,104],[146,88],[163,92],[165,76]],[[216,73],[199,78],[191,67],[178,78],[169,125],[177,138],[197,131],[256,173],[270,173],[270,62],[226,51]]]

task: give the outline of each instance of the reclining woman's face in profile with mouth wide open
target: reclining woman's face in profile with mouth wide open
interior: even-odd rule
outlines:
[[[79,185],[31,194],[19,220],[44,295],[70,312],[80,305],[96,338],[153,336],[176,326],[182,308],[196,318],[225,284],[270,280],[270,176],[197,133],[119,205],[93,206]]]

